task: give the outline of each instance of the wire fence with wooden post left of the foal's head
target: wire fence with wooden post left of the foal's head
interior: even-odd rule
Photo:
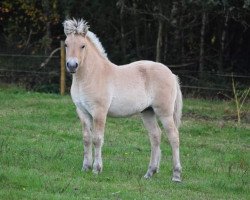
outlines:
[[[60,92],[63,95],[69,79],[65,73],[63,42],[49,56],[0,54],[2,84],[21,85],[28,90],[42,92]]]

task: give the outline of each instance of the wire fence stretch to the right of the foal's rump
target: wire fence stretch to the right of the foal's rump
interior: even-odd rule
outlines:
[[[217,73],[205,71],[202,74],[194,70],[174,70],[182,83],[182,91],[185,94],[195,94],[198,96],[226,97],[232,96],[233,81],[236,83],[237,92],[242,92],[250,88],[250,75],[234,73]]]

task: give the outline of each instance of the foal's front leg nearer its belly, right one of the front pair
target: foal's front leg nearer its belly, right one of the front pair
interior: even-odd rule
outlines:
[[[106,115],[100,113],[93,117],[93,144],[95,150],[93,173],[98,174],[102,172],[102,145],[104,142]]]

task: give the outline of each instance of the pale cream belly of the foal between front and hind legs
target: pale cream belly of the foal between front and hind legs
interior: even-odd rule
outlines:
[[[116,96],[113,97],[108,110],[112,117],[126,117],[142,112],[150,106],[150,100],[146,95]]]

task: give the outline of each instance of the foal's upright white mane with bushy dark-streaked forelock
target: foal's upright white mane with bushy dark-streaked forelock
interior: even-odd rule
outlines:
[[[105,52],[105,49],[103,48],[99,38],[93,32],[89,31],[88,22],[83,19],[67,19],[63,22],[63,27],[66,36],[70,34],[87,36],[94,44],[96,49],[100,52],[100,54],[107,58],[107,53]]]

